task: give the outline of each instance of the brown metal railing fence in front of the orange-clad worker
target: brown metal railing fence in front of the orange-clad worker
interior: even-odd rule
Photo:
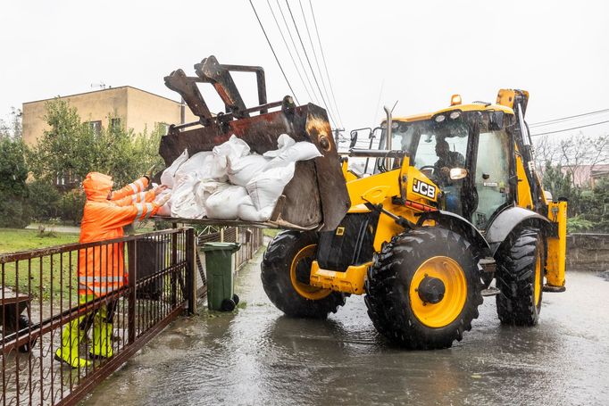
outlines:
[[[0,255],[0,404],[77,402],[171,319],[195,311],[195,247],[192,228],[174,228]],[[127,283],[79,303],[78,269],[85,258],[100,279],[122,265]],[[91,324],[103,311],[104,320],[112,322],[113,356],[93,360],[88,354],[99,343],[100,330]],[[73,369],[54,355],[66,343],[63,329],[77,323],[83,336],[75,351],[90,363]]]

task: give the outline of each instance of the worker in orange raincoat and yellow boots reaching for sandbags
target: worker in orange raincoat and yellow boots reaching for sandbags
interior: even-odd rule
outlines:
[[[135,220],[153,216],[170,198],[169,194],[154,201],[165,189],[158,186],[146,192],[149,176],[112,191],[111,177],[99,172],[88,173],[82,186],[87,202],[80,224],[80,243],[93,243],[123,236],[122,228]],[[123,261],[123,244],[99,244],[79,250],[79,303],[90,302],[113,293],[125,286],[127,273]],[[109,301],[99,311],[72,320],[62,334],[62,346],[55,352],[55,359],[63,360],[72,368],[90,365],[79,358],[79,343],[93,325],[92,357],[113,356],[111,345],[112,318],[115,300]]]

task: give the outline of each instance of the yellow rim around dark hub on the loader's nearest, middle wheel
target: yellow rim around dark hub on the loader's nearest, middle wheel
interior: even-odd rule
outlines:
[[[446,290],[437,303],[423,302],[418,287],[425,277],[438,278]],[[421,263],[410,284],[410,304],[414,316],[427,327],[445,327],[455,321],[467,300],[467,281],[461,266],[452,258],[432,257]]]

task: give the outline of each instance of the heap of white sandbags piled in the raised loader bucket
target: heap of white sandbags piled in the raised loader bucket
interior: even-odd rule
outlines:
[[[321,156],[309,142],[287,134],[278,149],[259,155],[242,139],[232,136],[224,144],[188,157],[185,150],[163,171],[170,201],[158,212],[180,219],[266,221],[279,196],[294,177],[296,162]]]

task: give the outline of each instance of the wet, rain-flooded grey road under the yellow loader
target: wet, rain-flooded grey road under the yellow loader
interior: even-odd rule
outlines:
[[[253,262],[238,311],[178,319],[84,403],[608,404],[609,281],[570,272],[567,284],[544,294],[537,327],[502,327],[491,297],[461,343],[406,352],[376,333],[362,296],[325,321],[282,316]]]

